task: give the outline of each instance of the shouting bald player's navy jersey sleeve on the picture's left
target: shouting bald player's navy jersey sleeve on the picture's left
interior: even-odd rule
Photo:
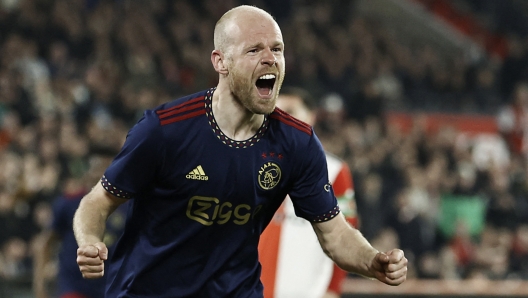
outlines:
[[[159,119],[146,111],[128,132],[125,144],[101,178],[111,194],[132,198],[149,187],[163,161],[163,136]]]

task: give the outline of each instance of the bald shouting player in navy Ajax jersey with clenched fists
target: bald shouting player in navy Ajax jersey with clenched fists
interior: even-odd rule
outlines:
[[[265,11],[239,6],[214,31],[216,87],[145,112],[74,218],[85,278],[106,296],[263,297],[260,234],[287,194],[341,268],[399,285],[407,259],[347,224],[312,128],[279,109],[284,43]],[[129,201],[112,258],[106,217]],[[105,261],[109,266],[105,267]]]

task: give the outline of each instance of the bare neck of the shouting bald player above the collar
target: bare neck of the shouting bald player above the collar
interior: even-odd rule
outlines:
[[[259,130],[264,115],[254,114],[237,100],[226,84],[219,83],[213,93],[213,115],[218,127],[230,139],[243,141]]]

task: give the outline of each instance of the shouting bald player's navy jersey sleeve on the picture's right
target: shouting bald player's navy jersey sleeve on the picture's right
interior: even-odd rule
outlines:
[[[289,193],[295,214],[310,222],[334,218],[340,212],[339,205],[328,179],[323,147],[315,134],[298,157],[297,180]]]

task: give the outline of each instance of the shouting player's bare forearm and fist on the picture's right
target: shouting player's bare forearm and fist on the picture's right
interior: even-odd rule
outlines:
[[[341,268],[389,285],[399,285],[407,275],[407,259],[399,249],[379,252],[340,214],[312,224],[324,252]]]

